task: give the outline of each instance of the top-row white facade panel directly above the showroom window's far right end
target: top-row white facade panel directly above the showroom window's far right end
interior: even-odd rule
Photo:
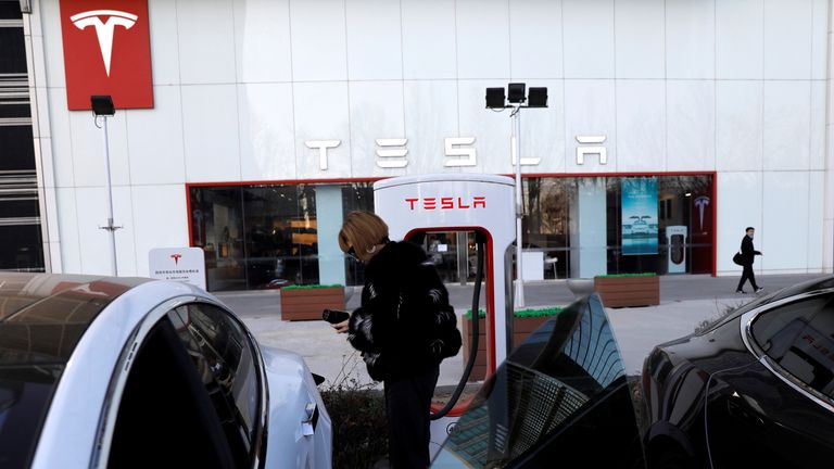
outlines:
[[[716,76],[715,0],[667,0],[666,76]]]

